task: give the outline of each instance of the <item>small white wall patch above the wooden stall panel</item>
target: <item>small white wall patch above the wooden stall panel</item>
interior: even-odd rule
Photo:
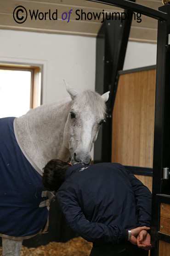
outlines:
[[[156,65],[157,45],[128,42],[123,70]]]

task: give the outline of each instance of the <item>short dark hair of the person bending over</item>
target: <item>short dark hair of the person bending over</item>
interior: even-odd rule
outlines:
[[[43,168],[42,183],[48,191],[57,191],[65,179],[65,173],[70,167],[66,162],[52,159]]]

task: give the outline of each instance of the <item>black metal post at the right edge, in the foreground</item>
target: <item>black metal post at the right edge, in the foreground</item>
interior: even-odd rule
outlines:
[[[158,21],[151,256],[159,255],[159,239],[170,243],[170,236],[160,232],[160,203],[170,204],[170,180],[163,179],[163,168],[170,167],[170,6],[159,10],[167,13],[167,21]]]

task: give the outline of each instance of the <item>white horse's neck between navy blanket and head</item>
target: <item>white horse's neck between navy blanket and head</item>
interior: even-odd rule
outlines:
[[[41,171],[51,159],[69,157],[68,149],[63,145],[63,131],[71,101],[64,101],[31,109],[16,119],[19,145],[33,166]]]

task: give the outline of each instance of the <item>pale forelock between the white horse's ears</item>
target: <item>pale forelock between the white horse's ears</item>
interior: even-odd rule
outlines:
[[[106,114],[106,104],[102,100],[101,95],[96,91],[83,91],[75,97],[73,104],[75,102],[79,102],[80,109],[83,109],[85,106],[88,105],[96,114],[99,114],[100,116]]]

